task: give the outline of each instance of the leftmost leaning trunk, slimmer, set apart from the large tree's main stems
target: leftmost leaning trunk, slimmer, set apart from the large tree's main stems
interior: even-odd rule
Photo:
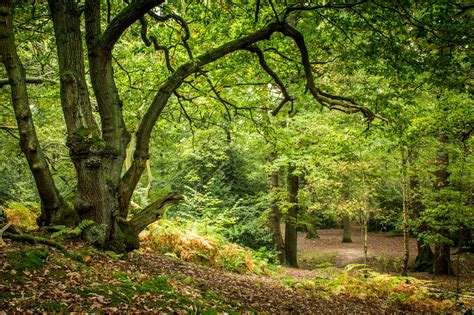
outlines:
[[[12,2],[1,2],[0,53],[9,79],[12,104],[20,134],[20,147],[33,173],[41,199],[38,225],[74,224],[78,219],[77,214],[59,194],[38,142],[29,105],[25,69],[16,52],[12,14]]]

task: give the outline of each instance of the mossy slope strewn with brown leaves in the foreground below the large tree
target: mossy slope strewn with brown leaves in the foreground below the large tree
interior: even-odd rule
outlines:
[[[319,246],[315,246],[315,242],[326,241],[325,233],[321,232],[320,236],[320,240],[308,243],[314,246],[301,240],[300,249],[317,250]],[[357,244],[355,235],[353,240]],[[305,249],[305,246],[309,247]],[[336,249],[334,246],[333,250]],[[242,275],[141,252],[122,259],[76,241],[69,242],[67,250],[73,256],[52,247],[6,239],[0,246],[0,314],[23,311],[406,314],[427,311],[417,308],[417,304],[387,303],[383,298],[359,298],[344,293],[328,295],[307,290],[301,284],[288,285],[296,283],[289,276],[293,279],[318,277],[314,270],[284,268],[275,274]],[[336,251],[336,262],[338,257]],[[432,307],[437,305],[431,304]],[[465,304],[460,310],[465,312],[472,306]],[[436,312],[436,308],[428,311]],[[448,310],[451,311],[455,312],[455,308]]]

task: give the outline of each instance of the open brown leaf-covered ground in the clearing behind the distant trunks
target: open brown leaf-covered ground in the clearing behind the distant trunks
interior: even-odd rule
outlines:
[[[360,264],[364,262],[363,234],[359,226],[352,227],[352,243],[342,243],[342,230],[327,229],[318,230],[318,239],[307,239],[305,233],[298,233],[298,257],[299,267],[307,277],[315,273],[308,270],[317,269],[318,265],[331,263],[338,268],[344,268],[349,264]],[[415,262],[417,249],[416,240],[409,240],[410,260],[409,265]],[[451,260],[453,269],[457,273],[457,249]],[[403,236],[394,235],[390,232],[368,233],[368,265],[370,268],[391,274],[400,274],[402,270],[402,257],[404,253]],[[462,292],[473,296],[474,299],[474,254],[463,253],[460,257],[459,286]],[[426,272],[409,272],[409,276],[436,280],[440,289],[456,291],[456,276],[436,276]]]

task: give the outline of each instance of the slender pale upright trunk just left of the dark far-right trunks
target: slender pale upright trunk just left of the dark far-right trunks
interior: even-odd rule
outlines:
[[[401,175],[402,175],[402,204],[403,204],[403,270],[402,276],[406,276],[408,273],[408,261],[410,259],[410,239],[408,235],[408,153],[405,152],[405,148],[401,146]]]

